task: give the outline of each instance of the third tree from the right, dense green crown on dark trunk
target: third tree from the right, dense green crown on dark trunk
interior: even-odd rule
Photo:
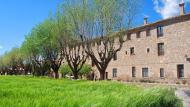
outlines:
[[[62,64],[64,53],[60,44],[58,44],[59,29],[53,19],[49,19],[40,24],[37,28],[37,34],[40,41],[41,56],[45,62],[49,63],[51,69],[58,78],[58,71]]]

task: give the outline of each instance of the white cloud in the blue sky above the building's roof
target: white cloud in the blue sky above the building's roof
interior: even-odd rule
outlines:
[[[153,0],[154,10],[159,13],[163,19],[179,15],[179,3],[182,0]],[[190,0],[184,0],[190,2]]]

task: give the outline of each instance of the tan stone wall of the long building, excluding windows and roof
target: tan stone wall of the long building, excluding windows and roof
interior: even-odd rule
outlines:
[[[187,17],[189,17],[188,15]],[[157,25],[163,26],[163,37],[157,37]],[[177,65],[184,64],[184,78],[190,79],[190,20],[171,19],[154,26],[147,25],[141,29],[141,37],[136,38],[136,32],[131,34],[131,40],[126,40],[122,50],[117,54],[117,60],[111,61],[106,72],[108,79],[124,81],[151,79],[155,81],[176,82]],[[151,35],[146,36],[146,29],[151,29]],[[118,38],[116,38],[116,45]],[[158,56],[157,44],[164,43],[165,54]],[[135,55],[130,55],[130,48],[135,48]],[[149,49],[149,52],[147,52]],[[89,62],[90,63],[90,62]],[[136,77],[132,78],[132,67],[136,67]],[[149,69],[148,77],[142,77],[142,68]],[[113,68],[117,68],[117,77],[112,77]],[[160,68],[164,68],[165,76],[160,78]],[[94,68],[97,71],[96,68]],[[98,73],[97,73],[98,75]],[[99,76],[99,75],[98,75]]]

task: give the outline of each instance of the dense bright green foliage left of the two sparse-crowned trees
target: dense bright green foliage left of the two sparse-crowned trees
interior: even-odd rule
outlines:
[[[48,54],[57,54],[63,47],[62,39],[69,36],[65,33],[66,24],[60,15],[50,16],[38,24],[26,36],[22,45],[23,52],[28,56],[47,58]]]

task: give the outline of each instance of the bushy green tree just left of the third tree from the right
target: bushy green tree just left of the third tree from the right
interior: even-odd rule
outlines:
[[[25,62],[31,66],[31,72],[36,76],[44,76],[47,72],[48,64],[41,54],[41,44],[44,39],[39,38],[36,28],[34,28],[25,38],[22,44],[22,51],[25,55]]]

